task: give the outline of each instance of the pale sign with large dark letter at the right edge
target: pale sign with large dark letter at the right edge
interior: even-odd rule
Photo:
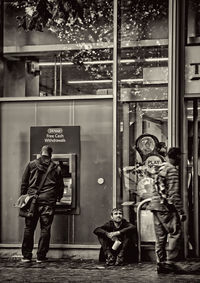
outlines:
[[[200,46],[185,47],[185,96],[200,95]]]

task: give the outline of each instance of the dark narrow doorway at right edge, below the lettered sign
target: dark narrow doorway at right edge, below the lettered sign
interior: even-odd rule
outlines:
[[[188,248],[189,255],[200,256],[200,99],[186,101],[188,149]]]

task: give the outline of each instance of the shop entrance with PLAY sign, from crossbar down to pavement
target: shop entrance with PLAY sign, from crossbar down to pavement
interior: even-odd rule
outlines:
[[[138,260],[155,260],[153,215],[147,207],[168,147],[168,101],[131,101],[121,107],[119,199],[125,218],[137,226]]]

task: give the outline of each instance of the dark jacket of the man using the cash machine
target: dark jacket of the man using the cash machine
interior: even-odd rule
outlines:
[[[44,205],[55,205],[56,201],[62,198],[64,183],[61,168],[46,156],[41,156],[27,165],[22,176],[21,195],[35,194],[50,163],[51,170],[40,190],[37,202]]]

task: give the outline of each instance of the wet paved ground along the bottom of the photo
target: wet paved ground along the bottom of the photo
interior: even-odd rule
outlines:
[[[200,282],[200,262],[177,265],[176,272],[157,274],[155,263],[106,267],[93,260],[49,259],[22,263],[19,258],[0,258],[0,282]]]

